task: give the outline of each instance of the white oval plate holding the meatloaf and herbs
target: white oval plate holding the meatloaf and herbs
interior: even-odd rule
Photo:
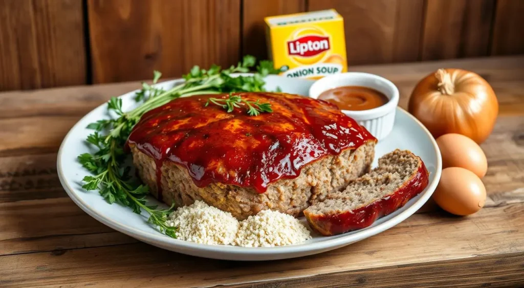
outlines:
[[[177,80],[173,80],[158,85],[169,88],[176,82]],[[307,95],[313,81],[268,76],[266,83],[266,88],[269,91],[275,90],[276,86],[279,86],[284,92]],[[124,110],[132,109],[136,105],[132,98],[134,94],[135,91],[121,96]],[[415,213],[430,198],[439,182],[442,170],[440,151],[429,131],[405,110],[398,108],[395,127],[391,134],[376,146],[374,165],[376,165],[378,157],[396,148],[411,150],[422,158],[430,172],[429,185],[405,206],[386,217],[378,219],[370,227],[330,237],[313,233],[313,239],[300,245],[273,248],[204,245],[165,236],[147,223],[148,215],[146,213],[138,215],[128,207],[116,203],[108,204],[97,191],[82,189],[82,178],[89,172],[77,161],[77,156],[81,153],[90,152],[90,148],[86,146],[84,139],[92,132],[85,127],[96,120],[107,117],[106,104],[101,105],[78,121],[65,136],[57,159],[58,175],[65,191],[83,211],[115,230],[163,249],[199,257],[225,260],[275,260],[307,256],[349,245],[389,229]],[[149,200],[159,204],[152,197]],[[307,225],[304,219],[302,221]]]

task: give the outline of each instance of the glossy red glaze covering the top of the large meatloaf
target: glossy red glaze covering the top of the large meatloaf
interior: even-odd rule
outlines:
[[[179,98],[142,116],[127,145],[156,160],[157,183],[168,160],[185,167],[196,186],[253,186],[264,193],[272,182],[296,178],[305,164],[376,141],[331,103],[285,93],[237,94],[270,103],[273,112],[249,116],[245,107],[227,113],[204,106],[227,94]]]

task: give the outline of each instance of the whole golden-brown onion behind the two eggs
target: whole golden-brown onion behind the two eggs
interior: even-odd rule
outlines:
[[[408,111],[435,138],[457,133],[482,143],[495,126],[498,101],[493,88],[478,74],[439,69],[415,86]]]

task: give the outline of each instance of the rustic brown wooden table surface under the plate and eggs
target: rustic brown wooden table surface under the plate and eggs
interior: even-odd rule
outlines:
[[[482,75],[500,104],[482,144],[486,207],[428,203],[394,228],[314,256],[219,261],[162,250],[81,211],[57,176],[58,147],[83,115],[139,83],[0,93],[0,287],[478,287],[524,285],[524,57],[353,67],[387,77],[406,107],[438,68]]]

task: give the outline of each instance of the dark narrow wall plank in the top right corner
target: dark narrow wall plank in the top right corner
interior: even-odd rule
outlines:
[[[492,55],[524,53],[524,1],[498,0],[493,26]]]

